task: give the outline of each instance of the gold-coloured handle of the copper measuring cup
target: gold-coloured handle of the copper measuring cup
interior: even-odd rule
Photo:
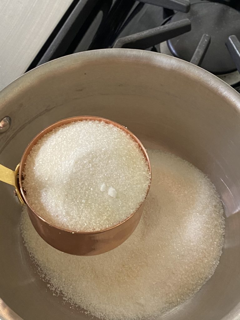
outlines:
[[[21,191],[18,183],[18,175],[19,175],[19,164],[17,165],[15,171],[7,167],[4,167],[4,165],[0,164],[0,181],[11,184],[13,187],[15,187],[16,194],[19,198],[19,201],[23,205],[25,204],[25,202],[23,201],[23,198],[21,196]]]

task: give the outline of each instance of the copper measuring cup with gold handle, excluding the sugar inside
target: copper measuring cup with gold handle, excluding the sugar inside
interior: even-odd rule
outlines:
[[[129,131],[121,124],[118,124],[114,121],[105,118],[94,116],[76,116],[63,119],[54,124],[51,124],[43,131],[38,133],[35,136],[35,138],[33,138],[33,140],[28,144],[27,148],[25,149],[22,155],[20,164],[17,165],[15,171],[12,171],[11,169],[6,168],[0,164],[0,180],[15,187],[16,194],[19,197],[20,203],[22,205],[26,204],[27,206],[28,215],[34,228],[36,229],[37,233],[48,244],[62,252],[74,255],[90,256],[104,253],[116,248],[132,234],[141,218],[145,199],[135,212],[133,212],[127,219],[113,227],[92,232],[76,232],[65,228],[57,227],[43,219],[41,216],[39,216],[37,212],[35,212],[31,208],[31,205],[28,203],[26,192],[24,191],[22,185],[24,180],[24,166],[27,156],[30,153],[33,146],[37,143],[37,141],[41,139],[46,133],[52,131],[56,127],[60,127],[63,124],[69,124],[71,122],[83,120],[103,121],[107,124],[112,124],[129,134],[141,148],[148,162],[149,171],[151,173],[151,166],[147,152],[140,140],[131,131]],[[150,185],[148,186],[148,190],[149,187]],[[146,196],[148,194],[148,190],[146,192]]]

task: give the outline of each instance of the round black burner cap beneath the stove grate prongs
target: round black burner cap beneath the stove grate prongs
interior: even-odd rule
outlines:
[[[177,12],[169,22],[188,18],[192,29],[167,41],[172,55],[190,61],[203,34],[211,36],[211,43],[201,67],[222,75],[233,72],[236,66],[225,46],[228,36],[240,39],[240,12],[225,5],[202,1],[191,5],[188,13]]]

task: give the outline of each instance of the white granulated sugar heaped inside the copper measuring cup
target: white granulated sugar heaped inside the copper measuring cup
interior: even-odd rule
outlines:
[[[78,121],[44,135],[25,165],[23,187],[45,220],[73,231],[96,231],[129,217],[144,200],[148,163],[123,130]]]

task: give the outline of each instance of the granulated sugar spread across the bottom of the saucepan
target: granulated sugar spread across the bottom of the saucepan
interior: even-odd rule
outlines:
[[[152,184],[143,217],[116,249],[71,256],[42,240],[22,214],[28,251],[50,287],[92,315],[108,320],[166,313],[212,276],[222,252],[224,218],[212,183],[188,162],[148,151]]]

